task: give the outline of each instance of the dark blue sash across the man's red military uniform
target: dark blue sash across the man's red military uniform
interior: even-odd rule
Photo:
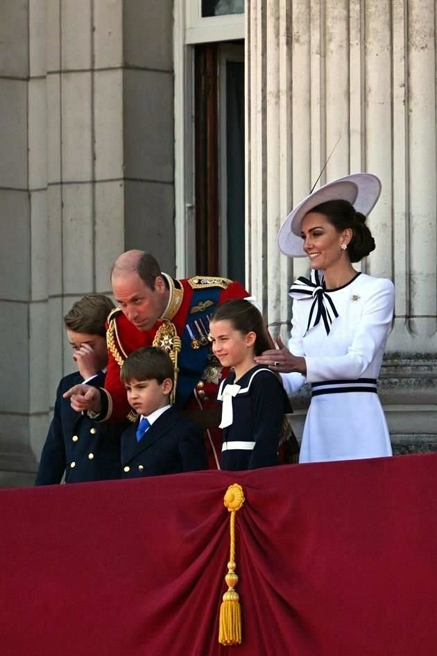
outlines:
[[[180,335],[182,340],[182,349],[179,353],[178,358],[178,385],[176,387],[176,398],[175,406],[183,407],[187,403],[188,397],[193,392],[194,387],[196,387],[200,376],[205,369],[205,364],[207,362],[207,357],[211,353],[211,344],[205,344],[205,346],[200,345],[200,348],[192,348],[191,346],[191,335],[187,330],[187,323],[189,326],[194,326],[194,321],[198,319],[203,319],[203,325],[205,328],[208,328],[209,321],[205,319],[208,314],[213,312],[214,308],[218,303],[218,297],[221,294],[221,287],[207,287],[206,289],[194,289],[193,297],[191,298],[191,304],[187,313],[186,325]],[[198,303],[202,301],[212,301],[214,305],[209,305],[205,310],[199,310],[198,312],[193,312],[191,314],[191,308],[194,308]],[[194,330],[195,336],[197,331]]]

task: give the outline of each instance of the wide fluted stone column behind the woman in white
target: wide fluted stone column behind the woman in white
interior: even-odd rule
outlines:
[[[393,441],[429,448],[437,444],[435,3],[411,0],[407,12],[403,0],[251,0],[246,35],[249,287],[272,333],[282,326],[285,337],[287,288],[309,267],[280,255],[275,236],[338,142],[319,184],[357,171],[383,184],[369,219],[377,249],[361,268],[396,286],[381,384]]]

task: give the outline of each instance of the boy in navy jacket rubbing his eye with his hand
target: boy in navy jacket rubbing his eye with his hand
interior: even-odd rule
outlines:
[[[55,412],[46,437],[35,485],[77,483],[121,477],[120,435],[123,425],[101,424],[75,412],[62,394],[71,385],[105,384],[108,362],[105,321],[114,304],[103,294],[87,294],[64,317],[78,371],[60,380]],[[125,424],[126,425],[126,424]]]

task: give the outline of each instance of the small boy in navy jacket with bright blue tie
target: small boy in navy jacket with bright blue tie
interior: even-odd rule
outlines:
[[[121,477],[207,469],[200,427],[170,405],[174,369],[156,346],[139,348],[123,362],[120,379],[139,418],[121,434]]]

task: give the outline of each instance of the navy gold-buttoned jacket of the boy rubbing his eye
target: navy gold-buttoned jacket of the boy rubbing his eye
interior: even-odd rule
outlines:
[[[121,478],[120,435],[126,423],[97,423],[73,410],[62,394],[80,382],[78,371],[60,380],[35,485],[59,483],[64,472],[67,483]],[[88,382],[94,387],[104,384],[103,372]]]

